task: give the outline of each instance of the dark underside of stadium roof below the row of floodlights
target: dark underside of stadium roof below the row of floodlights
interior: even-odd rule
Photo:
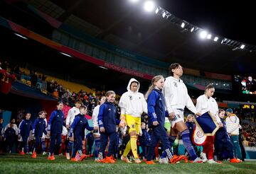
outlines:
[[[112,0],[111,3],[93,0],[35,0],[26,3],[77,30],[152,59],[168,63],[180,62],[188,68],[222,74],[256,74],[256,52],[223,45],[220,41],[200,40],[198,35],[183,30],[154,12],[145,13],[141,6],[131,4],[128,0]],[[170,3],[159,1],[159,5],[171,12]],[[186,14],[189,16],[188,12]],[[184,20],[194,22],[185,17]],[[195,21],[194,25],[198,23]],[[215,34],[219,33],[222,34],[220,31]],[[241,39],[231,39],[237,38]],[[253,44],[253,41],[249,42]]]

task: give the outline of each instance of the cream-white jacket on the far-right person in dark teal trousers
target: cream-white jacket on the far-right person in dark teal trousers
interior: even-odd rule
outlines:
[[[230,117],[226,117],[225,122],[228,134],[239,135],[239,118],[235,114],[232,114]]]

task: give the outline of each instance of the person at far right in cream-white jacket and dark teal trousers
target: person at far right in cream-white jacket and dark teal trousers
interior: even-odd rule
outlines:
[[[235,114],[233,114],[233,110],[231,108],[228,108],[226,110],[226,113],[228,117],[225,119],[225,122],[227,124],[228,134],[230,135],[230,139],[233,142],[235,157],[242,159],[242,153],[238,140],[240,128],[239,118]]]

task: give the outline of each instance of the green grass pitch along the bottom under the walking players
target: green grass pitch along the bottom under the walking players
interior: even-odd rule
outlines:
[[[117,163],[96,163],[94,158],[82,162],[71,162],[64,156],[55,156],[55,161],[48,161],[47,156],[19,154],[0,155],[0,173],[256,173],[256,161],[242,163],[208,164],[208,163],[176,163],[146,165],[127,164],[117,160]]]

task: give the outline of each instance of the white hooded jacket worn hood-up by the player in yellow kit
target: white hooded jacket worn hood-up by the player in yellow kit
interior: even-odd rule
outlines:
[[[139,93],[139,85],[137,91],[134,93],[130,90],[130,85],[136,79],[130,79],[127,92],[123,93],[119,100],[119,107],[121,108],[121,115],[132,115],[134,117],[141,117],[143,112],[147,112],[147,104],[142,93]],[[139,81],[137,81],[139,83]]]

